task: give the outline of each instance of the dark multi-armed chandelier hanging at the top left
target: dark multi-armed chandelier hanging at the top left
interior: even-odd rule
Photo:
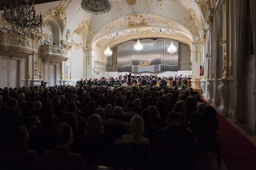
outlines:
[[[29,0],[16,0],[16,5],[10,5],[10,10],[4,6],[4,14],[2,14],[4,26],[10,26],[11,30],[20,34],[38,33],[44,26],[42,14],[36,14],[35,2],[29,5]]]

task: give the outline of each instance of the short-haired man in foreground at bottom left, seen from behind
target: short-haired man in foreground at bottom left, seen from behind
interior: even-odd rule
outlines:
[[[72,128],[67,123],[59,124],[54,136],[57,147],[52,151],[46,151],[41,156],[39,165],[51,170],[86,170],[84,159],[77,153],[71,153],[69,145],[73,142]]]

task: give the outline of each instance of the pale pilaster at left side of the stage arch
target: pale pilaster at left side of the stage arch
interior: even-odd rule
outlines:
[[[94,79],[94,56],[95,49],[87,48],[86,56],[85,56],[85,69],[86,69],[86,78]]]

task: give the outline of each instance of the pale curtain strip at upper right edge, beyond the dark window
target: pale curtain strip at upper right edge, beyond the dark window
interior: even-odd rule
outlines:
[[[254,62],[256,60],[256,1],[250,0],[250,6],[251,6],[251,19],[252,19],[252,39],[253,39],[253,46],[254,46]]]

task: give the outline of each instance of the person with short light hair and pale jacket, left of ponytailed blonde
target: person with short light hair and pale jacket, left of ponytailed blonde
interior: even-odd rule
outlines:
[[[119,107],[119,106],[115,106],[114,110],[113,110],[113,116],[114,116],[114,119],[108,119],[107,123],[108,124],[123,124],[125,132],[127,134],[131,134],[130,124],[121,120],[122,117],[124,116],[123,108]]]

